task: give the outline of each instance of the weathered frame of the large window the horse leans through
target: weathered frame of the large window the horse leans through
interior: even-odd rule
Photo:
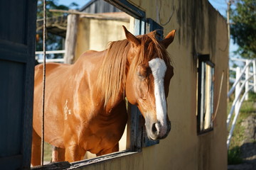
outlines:
[[[134,20],[134,35],[142,35],[145,33],[145,12],[139,8],[130,4],[127,0],[104,0],[113,6],[116,6],[121,11],[128,13],[129,16],[135,18]],[[41,169],[42,167],[63,167],[65,169],[73,168],[83,168],[85,166],[90,166],[91,164],[96,164],[99,162],[106,162],[111,159],[116,159],[119,157],[129,156],[131,154],[137,154],[142,152],[142,118],[139,113],[137,106],[128,105],[128,122],[127,122],[127,149],[119,152],[114,152],[111,154],[105,154],[100,157],[95,157],[92,159],[85,159],[79,162],[54,162],[52,164],[46,164],[44,166],[36,166],[32,169]]]

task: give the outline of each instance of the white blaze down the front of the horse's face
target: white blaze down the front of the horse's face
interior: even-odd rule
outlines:
[[[149,61],[154,77],[154,96],[156,99],[156,118],[162,126],[166,127],[166,98],[164,93],[164,76],[166,74],[166,64],[160,58]],[[159,127],[156,127],[159,128]],[[164,128],[164,127],[163,127]]]

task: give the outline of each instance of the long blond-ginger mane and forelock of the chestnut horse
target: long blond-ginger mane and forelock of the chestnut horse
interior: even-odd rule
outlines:
[[[163,59],[166,64],[171,60],[165,47],[155,38],[155,32],[146,35],[139,35],[137,38],[141,41],[141,50],[138,57],[134,57],[132,64],[129,65],[131,72],[134,72],[139,64],[149,61],[157,55]],[[119,40],[111,42],[107,48],[107,55],[102,60],[99,76],[97,77],[98,89],[105,96],[105,106],[108,102],[113,103],[117,98],[124,98],[124,86],[127,76],[127,54],[131,47],[128,40]],[[120,96],[120,94],[122,96]]]

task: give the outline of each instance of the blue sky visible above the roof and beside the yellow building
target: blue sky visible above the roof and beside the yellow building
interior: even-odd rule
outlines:
[[[78,4],[78,8],[81,8],[82,6],[84,6],[85,4],[87,4],[87,2],[89,2],[90,0],[58,0],[58,4],[63,4],[65,6],[69,6],[72,2],[75,2],[76,4]],[[210,4],[212,4],[212,6],[219,11],[219,13],[226,17],[226,9],[227,9],[227,1],[228,0],[208,0],[210,2]],[[234,6],[231,6],[234,7]],[[230,57],[235,57],[233,55],[233,51],[238,49],[238,45],[234,45],[233,44],[233,40],[230,39]]]

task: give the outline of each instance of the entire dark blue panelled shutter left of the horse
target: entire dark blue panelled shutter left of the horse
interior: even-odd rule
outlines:
[[[30,169],[36,4],[0,1],[1,169]]]

